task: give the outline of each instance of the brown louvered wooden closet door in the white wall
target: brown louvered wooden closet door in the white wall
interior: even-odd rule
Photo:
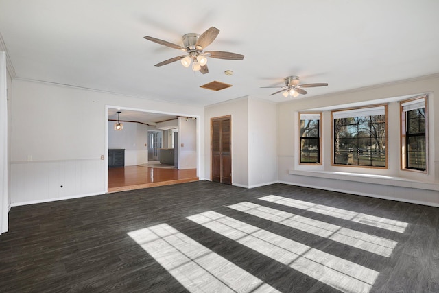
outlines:
[[[232,184],[231,117],[211,119],[212,181]]]

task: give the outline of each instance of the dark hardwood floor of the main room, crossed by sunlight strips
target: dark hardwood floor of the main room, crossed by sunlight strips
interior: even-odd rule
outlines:
[[[439,292],[439,209],[198,181],[12,207],[0,292]]]

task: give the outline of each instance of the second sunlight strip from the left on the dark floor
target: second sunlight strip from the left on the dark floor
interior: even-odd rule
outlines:
[[[370,292],[379,272],[233,218],[207,211],[187,219],[342,292]]]

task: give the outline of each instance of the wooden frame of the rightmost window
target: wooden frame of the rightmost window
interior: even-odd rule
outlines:
[[[424,105],[425,105],[425,170],[423,169],[416,169],[416,168],[410,168],[407,167],[407,111],[403,109],[404,106],[407,104],[416,103],[416,101],[423,99]],[[428,95],[420,95],[417,97],[412,97],[410,99],[403,99],[399,101],[399,110],[400,110],[400,169],[401,171],[408,171],[408,172],[418,172],[423,174],[428,174],[428,161],[429,161],[429,138],[428,138]]]

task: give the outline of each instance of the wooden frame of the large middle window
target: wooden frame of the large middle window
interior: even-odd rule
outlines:
[[[374,108],[384,108],[384,131],[385,131],[385,139],[384,139],[384,154],[385,154],[385,160],[384,160],[384,166],[372,166],[372,165],[351,165],[351,164],[340,164],[335,163],[335,129],[334,129],[334,114],[335,113],[358,113],[357,116],[354,117],[361,117],[361,113],[363,112],[369,112],[373,111]],[[372,115],[370,115],[372,116]],[[358,149],[359,150],[359,149]],[[345,108],[345,109],[337,109],[331,111],[331,165],[336,167],[355,167],[355,168],[365,168],[365,169],[388,169],[388,104],[375,104],[375,105],[368,105],[368,106],[362,106],[362,107],[355,107],[355,108]]]

